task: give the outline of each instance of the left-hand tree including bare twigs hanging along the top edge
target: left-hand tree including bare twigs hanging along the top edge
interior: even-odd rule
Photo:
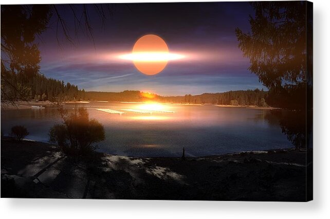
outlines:
[[[59,10],[64,8],[64,10]],[[77,36],[78,31],[86,33],[94,42],[88,11],[94,9],[99,14],[101,23],[106,20],[106,11],[112,13],[111,5],[93,4],[86,6],[74,5],[2,5],[1,6],[1,102],[15,105],[17,99],[29,100],[29,94],[17,88],[17,84],[24,83],[39,75],[40,51],[34,42],[35,37],[46,30],[52,16],[57,18],[56,39],[59,34],[72,44],[72,32]],[[62,13],[70,11],[74,21],[74,28],[69,28]],[[69,29],[73,31],[69,31]],[[64,84],[63,84],[64,85]],[[27,87],[28,88],[28,87]],[[34,88],[37,95],[41,95],[42,84]],[[26,90],[26,89],[24,89]],[[48,95],[50,98],[51,95]]]

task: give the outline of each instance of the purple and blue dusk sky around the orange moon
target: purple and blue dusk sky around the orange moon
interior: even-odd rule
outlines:
[[[249,59],[238,47],[235,28],[250,30],[246,2],[111,4],[102,25],[97,9],[87,6],[93,39],[84,31],[75,35],[74,15],[58,5],[73,44],[68,42],[55,16],[38,39],[40,71],[47,77],[70,82],[87,91],[141,90],[162,96],[218,93],[264,88],[247,69]],[[80,11],[81,5],[74,6]],[[145,34],[156,34],[169,51],[185,58],[169,61],[159,74],[139,72],[132,61],[119,59],[130,53]]]

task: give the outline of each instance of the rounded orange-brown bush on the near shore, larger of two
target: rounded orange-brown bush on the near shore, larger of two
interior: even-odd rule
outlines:
[[[62,106],[58,107],[63,124],[54,125],[49,131],[49,141],[57,143],[63,151],[71,155],[85,155],[96,149],[94,143],[105,139],[104,128],[95,119],[89,119],[85,108],[78,114],[69,114]]]

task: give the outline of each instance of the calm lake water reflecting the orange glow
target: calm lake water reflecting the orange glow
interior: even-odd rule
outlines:
[[[292,147],[269,111],[214,105],[165,105],[175,113],[123,115],[108,114],[96,108],[135,109],[141,103],[79,104],[90,118],[104,125],[106,139],[99,151],[129,156],[205,156],[240,151]],[[65,105],[74,112],[74,105]],[[1,111],[1,130],[7,135],[13,125],[25,125],[26,138],[48,141],[48,131],[60,123],[56,107]]]

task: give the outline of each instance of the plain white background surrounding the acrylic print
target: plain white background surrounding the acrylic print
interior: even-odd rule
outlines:
[[[109,3],[110,0],[5,0],[1,4]],[[157,2],[157,1],[124,1]],[[158,1],[168,2],[168,1]],[[170,1],[173,2],[173,1]],[[185,1],[181,1],[185,2]],[[195,2],[195,1],[189,1]],[[309,203],[160,200],[0,200],[2,218],[330,218],[330,4],[314,2],[314,200]],[[170,16],[170,15],[169,15]]]

